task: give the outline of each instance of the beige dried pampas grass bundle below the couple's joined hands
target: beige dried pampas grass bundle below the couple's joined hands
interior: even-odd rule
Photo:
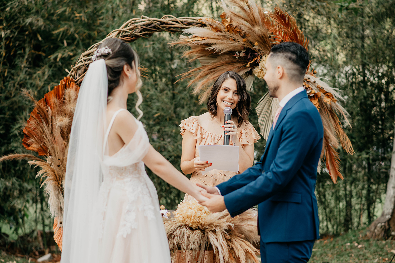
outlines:
[[[172,253],[192,250],[194,256],[199,254],[198,262],[203,262],[203,250],[212,246],[221,263],[234,263],[236,260],[258,263],[255,255],[258,250],[254,247],[260,243],[257,215],[256,209],[249,209],[233,218],[227,210],[211,213],[199,228],[191,228],[175,219],[164,219],[170,250]]]

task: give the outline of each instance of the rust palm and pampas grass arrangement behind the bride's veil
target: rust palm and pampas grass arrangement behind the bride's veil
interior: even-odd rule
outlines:
[[[66,172],[67,150],[79,87],[70,77],[65,77],[52,91],[37,101],[26,90],[23,93],[36,106],[30,113],[23,129],[23,146],[38,152],[38,158],[31,154],[10,154],[0,161],[29,159],[30,165],[41,170],[36,177],[45,178],[45,192],[49,195],[48,205],[54,220],[54,239],[62,250],[62,220],[64,206],[63,182]]]

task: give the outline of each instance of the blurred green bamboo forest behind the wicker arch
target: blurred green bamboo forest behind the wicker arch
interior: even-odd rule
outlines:
[[[259,2],[259,1],[258,1]],[[339,235],[366,228],[382,211],[387,189],[395,118],[395,1],[394,0],[273,0],[297,20],[310,40],[309,53],[318,76],[338,87],[342,105],[350,113],[352,129],[344,126],[355,154],[339,149],[344,180],[334,185],[329,175],[318,175],[316,195],[320,234]],[[24,123],[32,103],[21,89],[43,97],[67,75],[82,52],[107,33],[134,17],[209,16],[222,13],[214,0],[0,0],[0,156],[28,152],[22,146]],[[167,43],[179,35],[156,33],[132,43],[141,64],[141,109],[152,145],[179,169],[183,119],[206,111],[191,94],[186,81],[177,80],[194,63],[183,50]],[[259,131],[254,108],[267,91],[255,79],[250,120]],[[134,113],[135,97],[128,107]],[[255,159],[265,141],[255,144]],[[26,161],[0,163],[0,246],[23,254],[53,245],[53,219],[47,195],[35,179],[38,170]],[[175,209],[184,194],[149,172],[160,204]],[[41,253],[41,252],[40,252]]]

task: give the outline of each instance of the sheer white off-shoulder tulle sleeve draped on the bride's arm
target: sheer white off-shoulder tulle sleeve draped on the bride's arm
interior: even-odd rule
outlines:
[[[125,144],[116,154],[105,156],[103,162],[106,166],[128,166],[141,161],[149,150],[149,139],[143,124],[137,121],[139,128],[133,138]]]

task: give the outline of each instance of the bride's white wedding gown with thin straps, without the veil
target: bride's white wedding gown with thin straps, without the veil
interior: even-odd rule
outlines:
[[[107,137],[117,114],[105,133],[103,183],[100,187],[101,263],[170,262],[169,244],[160,215],[158,194],[147,173],[143,157],[149,139],[136,120],[134,137],[114,155],[108,156]]]

